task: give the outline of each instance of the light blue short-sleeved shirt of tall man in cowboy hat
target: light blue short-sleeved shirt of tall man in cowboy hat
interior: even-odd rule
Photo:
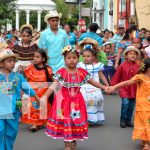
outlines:
[[[59,28],[57,34],[54,34],[50,28],[42,32],[38,46],[46,49],[48,65],[52,67],[53,73],[65,66],[62,49],[67,45],[69,45],[69,39],[63,29]]]

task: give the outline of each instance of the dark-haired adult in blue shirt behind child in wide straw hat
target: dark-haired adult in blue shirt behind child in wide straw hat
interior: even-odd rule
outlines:
[[[89,32],[81,34],[79,38],[79,42],[82,41],[84,38],[92,38],[93,40],[96,40],[98,42],[99,46],[103,45],[103,40],[102,38],[97,35],[96,31],[99,29],[99,26],[97,23],[92,23],[89,27]]]

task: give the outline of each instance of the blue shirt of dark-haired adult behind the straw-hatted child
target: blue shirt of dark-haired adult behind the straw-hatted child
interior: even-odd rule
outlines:
[[[83,34],[81,34],[81,36],[79,38],[79,42],[82,41],[84,38],[91,38],[91,39],[97,41],[99,46],[103,45],[103,40],[99,35],[97,35],[97,33],[94,33],[94,32],[83,33]]]

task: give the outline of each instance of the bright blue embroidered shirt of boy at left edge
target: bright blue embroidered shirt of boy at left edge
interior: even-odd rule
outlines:
[[[17,72],[11,72],[8,81],[0,72],[0,118],[17,112],[16,101],[21,99],[21,91],[34,96],[35,92],[26,79]]]

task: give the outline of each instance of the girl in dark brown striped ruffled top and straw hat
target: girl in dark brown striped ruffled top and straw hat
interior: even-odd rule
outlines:
[[[19,55],[14,71],[22,72],[33,62],[34,52],[38,50],[38,46],[32,42],[33,27],[31,25],[23,25],[20,32],[21,41],[13,47],[13,52]]]

